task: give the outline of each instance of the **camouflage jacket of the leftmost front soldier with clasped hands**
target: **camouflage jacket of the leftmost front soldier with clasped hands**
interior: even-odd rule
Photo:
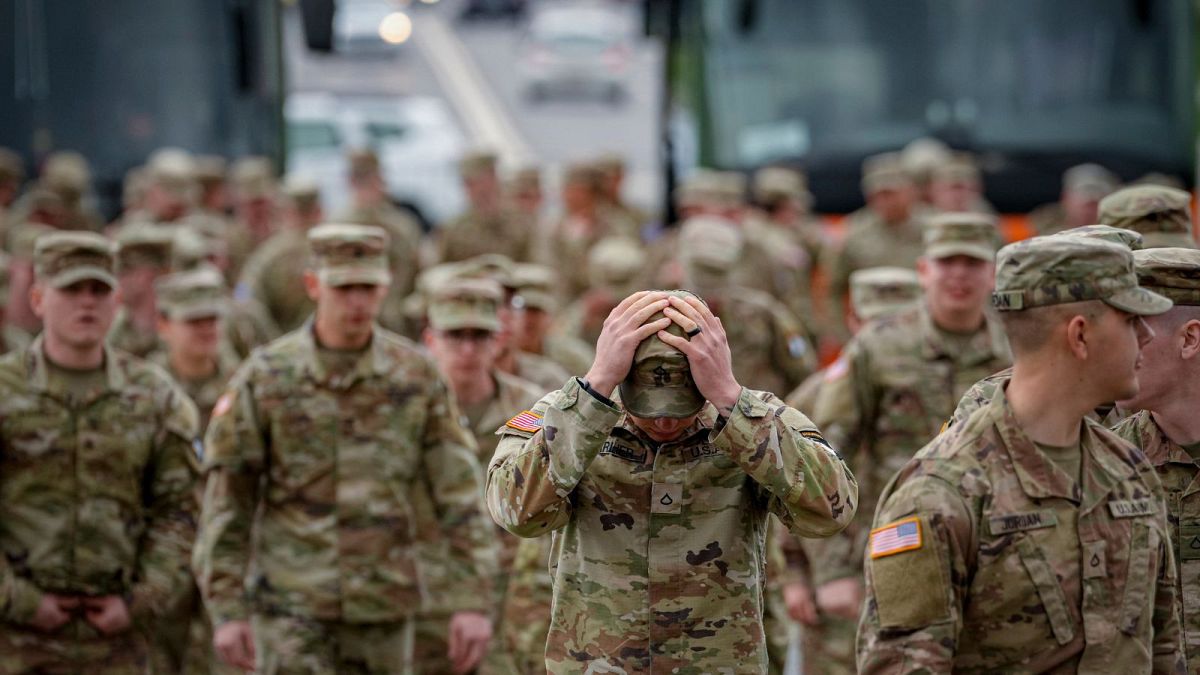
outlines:
[[[0,359],[0,615],[43,592],[125,596],[148,623],[191,589],[196,406],[160,368],[104,348],[100,392],[53,390],[38,338]]]

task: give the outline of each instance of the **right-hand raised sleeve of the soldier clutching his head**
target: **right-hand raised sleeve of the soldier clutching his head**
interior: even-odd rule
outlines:
[[[828,537],[850,524],[858,483],[816,426],[772,394],[742,389],[712,438],[763,490],[768,509],[793,533]]]

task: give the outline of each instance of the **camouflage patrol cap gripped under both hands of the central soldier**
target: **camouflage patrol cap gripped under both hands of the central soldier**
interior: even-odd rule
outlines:
[[[698,298],[688,291],[668,291],[668,293],[678,298],[688,295]],[[653,323],[665,316],[659,312],[646,322]],[[683,327],[673,321],[666,331],[688,339]],[[696,414],[704,407],[704,396],[691,377],[688,357],[658,335],[650,335],[637,346],[629,375],[622,381],[619,390],[622,405],[635,417],[682,419]]]

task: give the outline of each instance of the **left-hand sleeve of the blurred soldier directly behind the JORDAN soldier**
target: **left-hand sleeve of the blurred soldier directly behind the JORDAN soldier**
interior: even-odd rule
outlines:
[[[862,429],[865,406],[860,400],[858,377],[865,368],[859,353],[857,344],[851,342],[842,356],[826,370],[812,414],[812,420],[829,443],[846,458],[853,456],[864,441]],[[869,522],[872,514],[863,515],[863,520]],[[851,524],[833,537],[803,540],[804,552],[811,563],[812,584],[823,586],[839,579],[860,577],[864,538],[863,526]]]

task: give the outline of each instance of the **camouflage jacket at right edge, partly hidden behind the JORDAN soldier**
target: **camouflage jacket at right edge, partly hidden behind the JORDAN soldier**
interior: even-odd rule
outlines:
[[[1148,411],[1126,418],[1112,431],[1141,448],[1158,471],[1166,495],[1169,548],[1180,573],[1175,599],[1188,673],[1200,673],[1200,467],[1192,455],[1163,434]]]

